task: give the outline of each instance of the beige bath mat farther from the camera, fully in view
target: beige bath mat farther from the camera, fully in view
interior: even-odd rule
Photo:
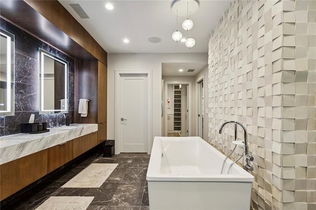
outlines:
[[[62,187],[99,188],[117,166],[117,163],[92,163]]]

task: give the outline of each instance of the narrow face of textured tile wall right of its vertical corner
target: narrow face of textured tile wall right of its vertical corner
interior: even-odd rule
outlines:
[[[282,208],[316,209],[316,1],[283,2]],[[279,50],[280,51],[280,50]],[[278,77],[282,75],[279,73]],[[277,87],[278,89],[279,87]],[[275,149],[278,151],[278,149]]]

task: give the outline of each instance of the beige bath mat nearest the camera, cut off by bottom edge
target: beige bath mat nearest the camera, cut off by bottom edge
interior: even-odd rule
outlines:
[[[93,196],[51,196],[36,210],[86,210]]]

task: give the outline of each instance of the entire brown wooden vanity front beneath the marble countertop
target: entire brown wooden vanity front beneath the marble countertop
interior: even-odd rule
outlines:
[[[105,125],[106,130],[106,124],[103,123],[102,125]],[[98,134],[99,132],[96,131],[1,164],[0,200],[2,201],[98,145],[100,142]]]

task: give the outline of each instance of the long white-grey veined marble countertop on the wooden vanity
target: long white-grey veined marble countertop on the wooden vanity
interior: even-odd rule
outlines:
[[[71,124],[41,134],[14,134],[0,137],[0,164],[98,131],[98,124]]]

